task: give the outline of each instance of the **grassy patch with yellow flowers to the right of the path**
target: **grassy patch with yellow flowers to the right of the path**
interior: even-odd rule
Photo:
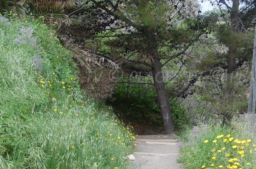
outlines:
[[[238,121],[233,121],[230,126],[203,124],[182,135],[186,143],[180,150],[179,162],[184,163],[185,169],[256,167],[256,139]],[[234,158],[238,160],[229,161]]]

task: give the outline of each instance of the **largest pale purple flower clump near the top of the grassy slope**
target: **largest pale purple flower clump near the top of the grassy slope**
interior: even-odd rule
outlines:
[[[37,39],[35,37],[32,36],[33,34],[33,28],[29,27],[29,28],[25,28],[24,26],[21,26],[21,28],[19,29],[20,34],[17,34],[17,39],[15,39],[15,42],[17,44],[32,44],[35,45],[35,47],[38,47],[36,44]]]

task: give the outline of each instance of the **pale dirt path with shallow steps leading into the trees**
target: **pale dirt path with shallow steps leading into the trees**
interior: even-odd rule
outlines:
[[[176,135],[137,136],[136,158],[131,161],[131,169],[182,169],[177,163],[180,146]]]

